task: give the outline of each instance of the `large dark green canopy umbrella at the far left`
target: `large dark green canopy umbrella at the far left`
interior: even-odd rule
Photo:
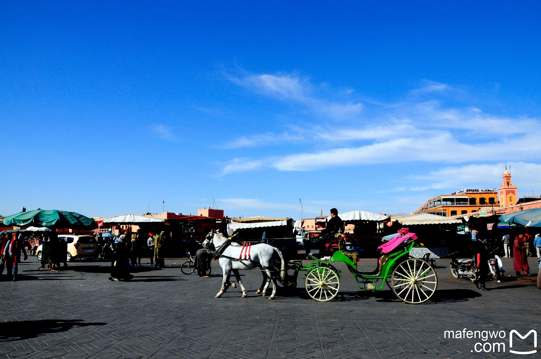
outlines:
[[[4,224],[85,230],[98,228],[98,224],[92,218],[75,212],[57,211],[55,209],[19,212],[15,215],[4,217]]]

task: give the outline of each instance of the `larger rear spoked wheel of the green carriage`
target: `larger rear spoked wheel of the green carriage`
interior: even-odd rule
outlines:
[[[394,294],[409,304],[427,301],[438,286],[438,277],[428,262],[410,258],[398,264],[391,275]]]

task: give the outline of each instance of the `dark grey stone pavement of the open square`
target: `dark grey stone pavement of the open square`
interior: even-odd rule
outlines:
[[[164,270],[143,265],[131,282],[107,280],[110,263],[74,261],[65,270],[19,267],[21,281],[0,282],[0,355],[8,358],[485,358],[509,353],[509,331],[523,335],[539,325],[536,277],[488,282],[489,292],[450,275],[437,260],[434,301],[411,305],[392,291],[361,291],[345,268],[340,295],[316,302],[304,292],[279,288],[275,300],[255,294],[258,271],[243,271],[247,298],[233,289],[219,299],[219,264],[213,276],[183,275],[182,260]],[[375,260],[361,260],[372,270]],[[530,258],[537,273],[537,258]],[[512,258],[504,258],[506,274]],[[5,273],[5,272],[4,272]],[[444,338],[444,330],[504,330],[505,353],[476,353],[479,339]],[[531,336],[513,339],[531,350]],[[541,338],[540,338],[541,340]],[[494,340],[489,340],[493,342]],[[541,349],[541,348],[540,348]],[[539,353],[526,356],[539,356]]]

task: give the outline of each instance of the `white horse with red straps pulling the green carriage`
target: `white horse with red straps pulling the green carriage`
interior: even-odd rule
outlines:
[[[223,236],[219,231],[212,230],[206,237],[208,244],[214,245],[216,251],[220,250],[222,245],[225,245],[227,242],[227,237]],[[238,258],[249,258],[249,260],[237,260]],[[233,258],[233,259],[230,259]],[[274,267],[274,262],[280,262],[280,272]],[[220,256],[220,265],[223,270],[222,278],[222,288],[216,294],[215,298],[220,298],[223,292],[226,289],[226,283],[229,283],[229,278],[231,276],[231,271],[235,275],[237,282],[239,282],[240,288],[242,289],[242,297],[246,297],[246,288],[242,285],[239,275],[240,270],[250,270],[254,268],[261,268],[263,273],[263,283],[261,283],[261,288],[258,289],[256,293],[262,293],[263,296],[266,295],[267,288],[273,282],[272,294],[269,299],[274,299],[276,294],[276,279],[278,275],[283,281],[286,275],[286,263],[283,261],[282,253],[278,248],[274,248],[272,245],[265,243],[258,243],[250,245],[250,248],[243,247],[239,243],[230,243],[230,245],[223,250]],[[232,285],[233,287],[233,285]]]

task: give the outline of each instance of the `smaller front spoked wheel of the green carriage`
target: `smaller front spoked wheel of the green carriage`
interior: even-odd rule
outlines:
[[[340,277],[338,273],[328,267],[317,267],[306,275],[306,292],[319,302],[327,302],[338,295]]]

